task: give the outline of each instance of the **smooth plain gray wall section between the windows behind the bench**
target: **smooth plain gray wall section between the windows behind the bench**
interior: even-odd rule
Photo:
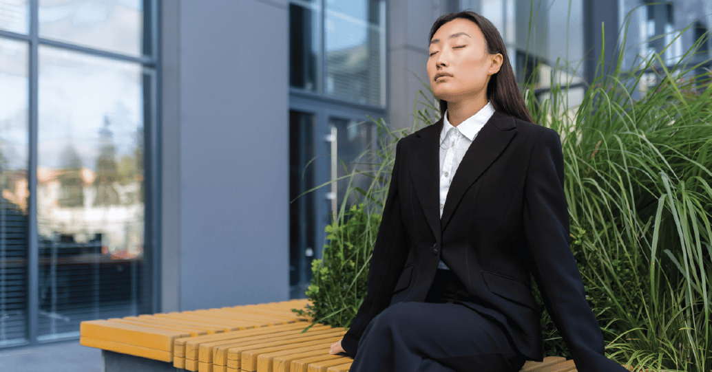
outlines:
[[[161,310],[286,300],[287,1],[162,8]]]

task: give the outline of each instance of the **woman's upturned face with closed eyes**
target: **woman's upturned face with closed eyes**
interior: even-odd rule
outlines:
[[[473,21],[456,18],[438,28],[430,41],[428,78],[435,97],[461,102],[486,100],[490,75],[502,65],[502,55],[487,53],[484,35]]]

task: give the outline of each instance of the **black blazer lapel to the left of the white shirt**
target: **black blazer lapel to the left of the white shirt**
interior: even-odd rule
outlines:
[[[418,132],[409,150],[409,169],[415,194],[436,240],[440,240],[439,142],[442,119]]]

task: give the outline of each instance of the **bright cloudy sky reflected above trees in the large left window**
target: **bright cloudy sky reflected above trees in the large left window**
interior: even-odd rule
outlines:
[[[40,166],[61,166],[57,154],[71,144],[93,168],[106,118],[117,155],[135,149],[142,126],[140,65],[51,47],[40,48],[39,60]]]

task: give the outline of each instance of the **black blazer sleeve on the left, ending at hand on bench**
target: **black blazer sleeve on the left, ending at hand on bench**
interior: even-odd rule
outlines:
[[[368,270],[366,298],[341,341],[342,348],[352,358],[356,356],[358,342],[366,326],[389,306],[393,289],[408,255],[407,235],[402,222],[398,191],[398,176],[404,161],[401,147],[402,141],[399,141],[396,145],[396,159],[388,196]]]

